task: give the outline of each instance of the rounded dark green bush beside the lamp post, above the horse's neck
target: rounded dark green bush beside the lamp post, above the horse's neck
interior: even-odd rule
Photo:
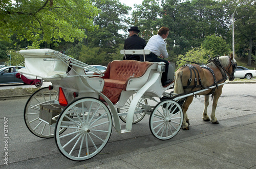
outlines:
[[[228,55],[229,49],[226,41],[219,36],[206,36],[202,43],[203,49],[211,51],[213,57]]]

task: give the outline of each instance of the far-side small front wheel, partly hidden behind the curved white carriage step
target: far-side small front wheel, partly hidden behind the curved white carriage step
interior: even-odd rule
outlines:
[[[127,113],[128,110],[129,110],[129,107],[131,105],[132,100],[133,100],[133,95],[130,96],[130,98],[126,101],[126,103],[124,104],[124,106],[122,108],[117,108],[117,113]],[[143,99],[143,98],[140,98],[139,102],[137,103],[134,115],[133,115],[133,124],[140,122],[144,118],[144,116],[146,115],[145,111],[142,110],[143,105],[147,105],[147,100]],[[119,118],[124,123],[126,123],[127,115],[119,116]]]

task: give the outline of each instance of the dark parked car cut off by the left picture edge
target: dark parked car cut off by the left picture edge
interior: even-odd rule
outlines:
[[[18,73],[18,69],[25,68],[23,66],[7,66],[0,69],[0,84],[7,83],[24,83],[22,79],[18,79],[15,75]]]

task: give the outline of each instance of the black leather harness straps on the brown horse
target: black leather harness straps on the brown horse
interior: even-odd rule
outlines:
[[[232,62],[232,59],[230,58],[230,60],[231,60],[231,64],[230,64],[230,66],[232,65],[233,66],[233,70],[234,70],[234,66],[236,66],[236,65],[234,65],[233,64],[233,62]],[[214,70],[212,70],[210,67],[208,67],[207,65],[203,65],[203,66],[200,66],[201,68],[204,68],[204,69],[207,69],[207,70],[209,70],[210,71],[210,73],[212,74],[212,76],[213,76],[213,78],[214,78],[214,84],[212,84],[211,86],[216,86],[217,87],[217,89],[218,89],[218,83],[220,83],[221,81],[226,81],[227,80],[227,74],[228,74],[228,72],[227,72],[227,70],[226,69],[224,69],[224,67],[222,66],[222,64],[221,64],[221,62],[220,62],[220,60],[219,59],[217,59],[217,58],[214,58],[213,60],[208,60],[208,63],[214,63],[219,69],[220,69],[220,71],[221,71],[221,74],[222,74],[222,79],[221,80],[219,80],[218,82],[216,81],[216,77],[215,77],[215,73],[214,73]],[[230,67],[229,66],[229,67]],[[184,68],[184,67],[188,67],[189,68],[189,71],[190,71],[190,78],[188,79],[188,81],[187,81],[187,85],[186,86],[183,86],[183,88],[184,89],[186,89],[186,88],[191,88],[191,90],[193,90],[194,88],[200,88],[201,87],[201,89],[205,89],[205,88],[209,88],[209,87],[211,87],[211,86],[209,86],[209,87],[205,87],[205,86],[203,86],[202,85],[202,81],[201,81],[201,78],[200,78],[200,75],[199,75],[199,72],[198,72],[198,69],[195,67],[195,66],[193,66],[193,65],[190,65],[190,64],[185,64],[184,66],[182,66],[182,69]],[[181,69],[181,70],[182,70]],[[191,84],[191,82],[192,82],[192,70],[194,71],[194,74],[195,74],[195,83],[194,83],[194,85],[190,85]],[[197,72],[197,74],[198,74],[198,78],[197,78],[197,74],[196,74],[196,72]],[[228,74],[229,75],[229,74]],[[230,75],[229,75],[230,76]],[[231,77],[231,76],[230,76]],[[199,82],[199,83],[197,83],[197,82]],[[216,90],[216,88],[213,88],[212,90],[210,90],[210,92],[208,93],[208,94],[206,94],[206,95],[209,95],[209,94],[214,94],[214,92],[215,92],[215,90]]]

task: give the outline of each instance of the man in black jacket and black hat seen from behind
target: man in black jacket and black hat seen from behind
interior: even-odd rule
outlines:
[[[143,50],[146,46],[146,41],[143,38],[140,38],[138,36],[138,33],[140,30],[138,30],[138,27],[131,27],[131,29],[128,30],[129,32],[129,38],[124,40],[124,50]],[[140,55],[125,55],[126,58],[123,57],[123,60],[140,60]]]

